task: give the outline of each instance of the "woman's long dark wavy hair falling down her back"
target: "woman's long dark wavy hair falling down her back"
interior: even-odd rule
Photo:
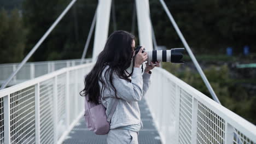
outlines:
[[[98,55],[94,68],[85,76],[85,87],[83,91],[80,92],[80,95],[88,95],[88,101],[99,104],[101,93],[106,88],[106,85],[110,83],[110,87],[114,89],[115,97],[117,98],[117,89],[115,89],[113,85],[113,73],[117,74],[120,79],[131,82],[129,77],[132,73],[129,74],[126,69],[131,65],[133,55],[131,45],[133,40],[135,40],[135,36],[125,31],[115,31],[109,36],[103,51]],[[102,71],[107,65],[109,65],[109,67],[106,69],[104,78],[109,80],[109,83],[102,79]],[[109,74],[109,77],[107,77],[107,74]],[[102,83],[101,89],[98,82]],[[102,98],[104,99],[104,97]]]

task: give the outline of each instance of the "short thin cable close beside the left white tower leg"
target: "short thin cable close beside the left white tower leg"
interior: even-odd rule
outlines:
[[[91,35],[92,35],[92,32],[94,31],[94,27],[95,27],[95,23],[96,23],[97,9],[98,9],[98,7],[95,10],[94,20],[92,20],[92,23],[91,23],[90,32],[88,34],[88,37],[87,37],[87,40],[86,40],[86,43],[85,43],[85,46],[84,46],[84,51],[83,51],[83,55],[82,55],[80,64],[83,64],[83,62],[84,62],[84,58],[85,58],[86,52],[88,50],[88,46],[89,46],[90,41],[91,41]]]

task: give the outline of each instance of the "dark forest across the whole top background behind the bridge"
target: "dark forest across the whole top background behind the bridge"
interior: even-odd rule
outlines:
[[[23,3],[22,7],[20,7],[21,2]],[[2,7],[8,9],[18,7],[22,11],[24,26],[28,30],[24,55],[32,49],[69,2],[68,0],[0,2]],[[130,32],[134,1],[113,0],[113,2],[117,29]],[[34,53],[30,61],[80,58],[97,3],[97,0],[77,1]],[[150,0],[149,3],[158,45],[165,45],[168,49],[184,47],[160,2]],[[220,55],[217,58],[223,61],[225,59],[236,61],[234,57],[224,56],[226,47],[232,46],[235,53],[241,53],[242,47],[249,45],[250,51],[256,52],[256,41],[254,40],[256,2],[254,0],[172,0],[166,1],[166,4],[195,54],[206,54],[209,61],[214,58],[209,58],[209,53]],[[113,17],[110,16],[109,33],[112,33],[114,31]],[[135,21],[135,35],[138,44],[137,20]],[[87,57],[91,56],[93,41],[94,37],[89,45]]]

